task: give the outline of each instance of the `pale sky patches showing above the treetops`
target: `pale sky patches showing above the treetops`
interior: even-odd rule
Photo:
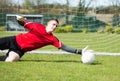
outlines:
[[[23,3],[24,0],[12,0],[14,3]],[[35,0],[34,0],[35,1]],[[79,3],[79,0],[69,0],[70,1],[70,6],[77,6]],[[87,2],[89,0],[86,0]],[[47,3],[61,3],[65,4],[66,0],[47,0]],[[93,3],[91,4],[92,7],[96,6],[107,6],[110,4],[110,0],[94,0]]]

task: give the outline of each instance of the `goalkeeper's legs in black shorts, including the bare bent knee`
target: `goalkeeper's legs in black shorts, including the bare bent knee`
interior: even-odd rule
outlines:
[[[4,58],[5,62],[18,61],[24,55],[24,52],[16,43],[15,36],[0,38],[0,50],[5,49],[9,50]]]

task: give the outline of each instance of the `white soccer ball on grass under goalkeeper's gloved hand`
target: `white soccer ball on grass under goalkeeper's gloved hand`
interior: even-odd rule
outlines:
[[[94,63],[95,54],[94,54],[93,50],[87,50],[86,52],[84,52],[82,54],[81,60],[82,60],[82,63],[85,63],[85,64]]]

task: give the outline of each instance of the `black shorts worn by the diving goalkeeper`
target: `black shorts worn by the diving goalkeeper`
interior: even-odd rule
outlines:
[[[9,50],[7,55],[9,54],[10,51],[18,53],[20,57],[24,55],[24,51],[20,49],[19,45],[16,42],[15,36],[0,38],[0,50],[5,49]]]

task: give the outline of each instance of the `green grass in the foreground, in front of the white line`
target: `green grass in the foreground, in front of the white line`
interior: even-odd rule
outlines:
[[[79,55],[26,54],[21,61],[0,62],[0,81],[119,81],[120,57],[96,56],[93,65]]]

